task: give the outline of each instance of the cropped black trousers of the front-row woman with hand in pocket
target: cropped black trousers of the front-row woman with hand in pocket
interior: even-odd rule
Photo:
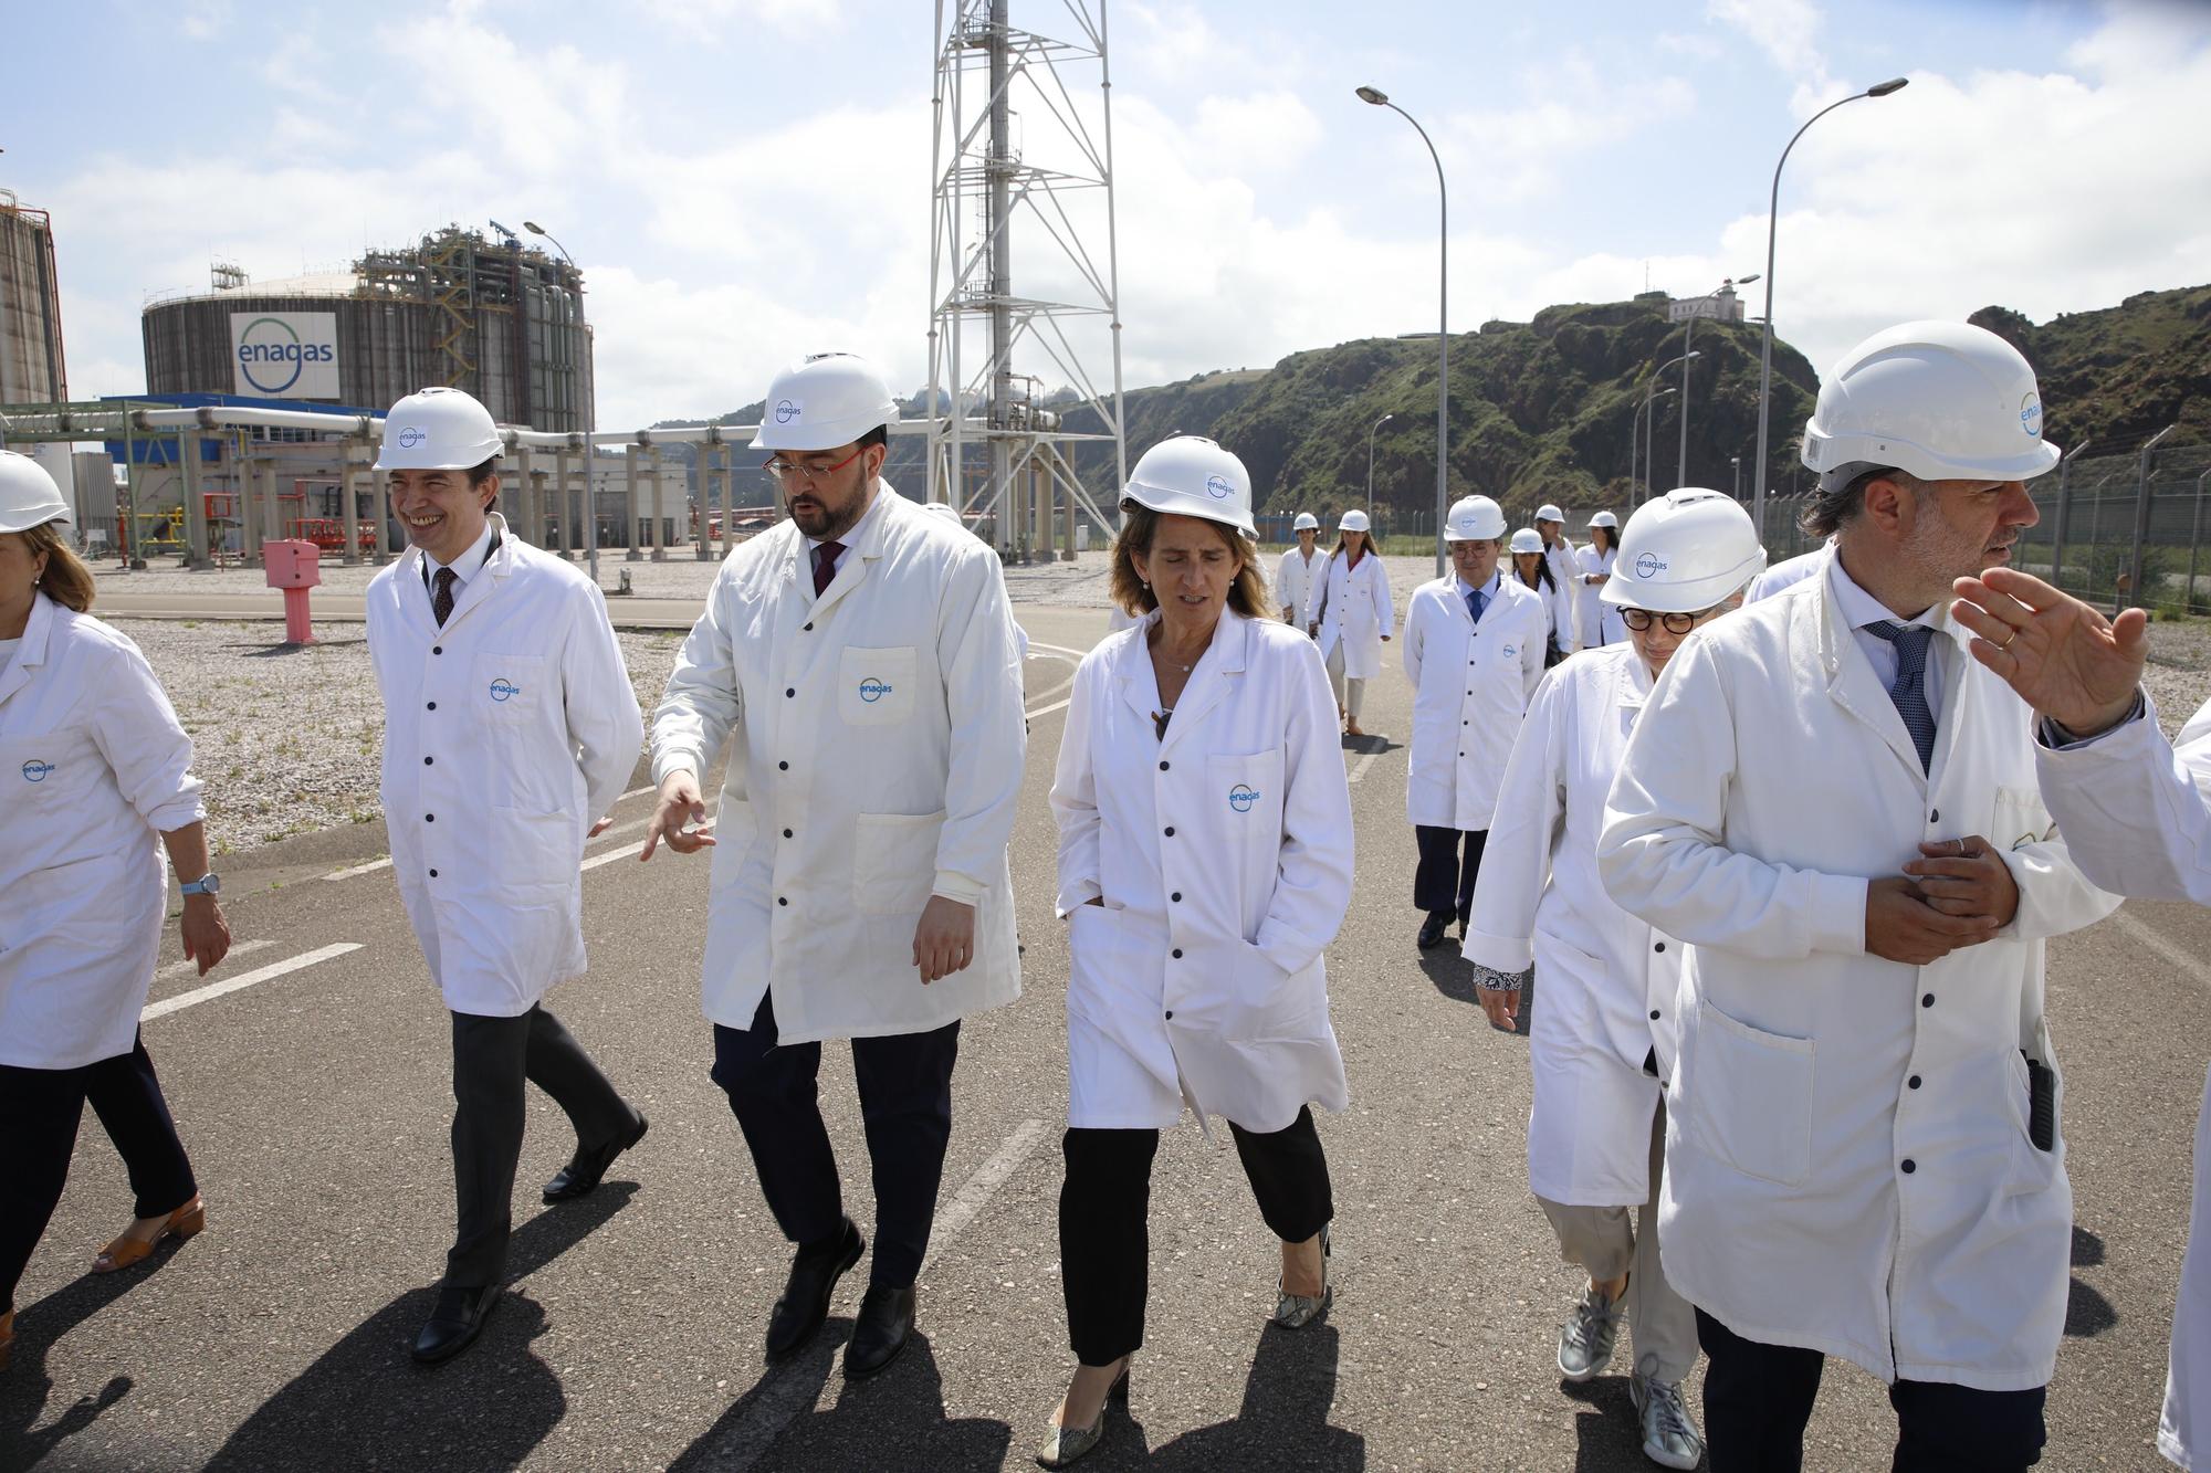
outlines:
[[[1304,1243],[1335,1216],[1313,1110],[1265,1135],[1232,1124],[1258,1214],[1274,1236]],[[1059,1283],[1068,1343],[1081,1365],[1112,1365],[1143,1345],[1152,1258],[1152,1157],[1159,1130],[1068,1130],[1059,1143]]]

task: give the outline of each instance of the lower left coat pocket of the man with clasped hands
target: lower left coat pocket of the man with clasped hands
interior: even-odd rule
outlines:
[[[1764,1033],[1700,1002],[1683,1055],[1685,1090],[1676,1104],[1700,1143],[1744,1177],[1804,1185],[1813,1042]]]

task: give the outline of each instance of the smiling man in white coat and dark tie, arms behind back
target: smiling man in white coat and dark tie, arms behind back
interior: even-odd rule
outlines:
[[[637,770],[643,721],[597,584],[491,511],[500,449],[475,398],[422,389],[385,416],[376,458],[409,542],[367,597],[391,874],[453,1013],[460,1225],[422,1362],[464,1351],[497,1300],[524,1082],[577,1137],[546,1203],[597,1188],[646,1135],[539,1002],[584,975],[584,838]]]

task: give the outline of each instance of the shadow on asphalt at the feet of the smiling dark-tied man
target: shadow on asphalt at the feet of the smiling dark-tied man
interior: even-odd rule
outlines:
[[[535,1274],[628,1205],[635,1181],[539,1212],[515,1230],[509,1278]],[[208,1462],[210,1469],[310,1469],[378,1462],[418,1469],[511,1469],[568,1411],[553,1367],[531,1354],[544,1307],[509,1289],[484,1334],[458,1358],[420,1367],[407,1354],[436,1289],[409,1289],[323,1351]]]

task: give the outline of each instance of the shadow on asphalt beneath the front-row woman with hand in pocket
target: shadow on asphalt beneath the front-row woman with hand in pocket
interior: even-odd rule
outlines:
[[[1245,1400],[1232,1422],[1196,1427],[1167,1442],[1148,1469],[1167,1473],[1223,1473],[1225,1469],[1327,1469],[1366,1466],[1366,1438],[1329,1427],[1335,1402],[1335,1327],[1311,1329],[1267,1325],[1258,1358],[1245,1378]],[[1139,1371],[1141,1373],[1141,1371]],[[1143,1404],[1143,1382],[1132,1378],[1132,1402]],[[1141,1424],[1139,1424],[1141,1438]],[[1099,1451],[1130,1449],[1128,1429],[1112,1429]],[[1141,1451],[1141,1440],[1134,1444]]]

